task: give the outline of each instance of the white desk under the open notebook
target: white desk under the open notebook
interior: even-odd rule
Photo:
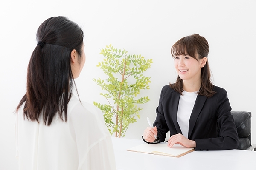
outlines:
[[[256,170],[256,151],[193,151],[175,158],[126,150],[143,140],[112,139],[117,170]]]

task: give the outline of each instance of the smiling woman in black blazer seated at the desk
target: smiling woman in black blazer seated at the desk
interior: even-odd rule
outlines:
[[[183,37],[172,46],[178,77],[174,84],[162,88],[154,128],[147,127],[143,133],[145,142],[163,142],[169,130],[168,147],[174,144],[195,150],[238,147],[227,92],[210,81],[208,53],[208,42],[199,34]]]

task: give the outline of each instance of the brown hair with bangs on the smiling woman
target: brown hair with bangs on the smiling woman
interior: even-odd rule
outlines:
[[[196,60],[208,57],[209,45],[207,40],[199,34],[192,34],[178,40],[171,48],[172,57],[177,55],[186,55],[193,57]],[[213,85],[210,80],[211,73],[208,64],[208,59],[204,67],[201,69],[201,87],[198,94],[202,96],[211,97],[216,92],[213,90]],[[171,88],[182,94],[183,80],[177,77],[174,84],[170,83]]]

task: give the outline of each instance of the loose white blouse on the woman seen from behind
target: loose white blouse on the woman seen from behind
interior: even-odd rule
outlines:
[[[73,95],[67,122],[56,118],[50,126],[23,118],[15,124],[19,170],[116,170],[111,135],[102,111]]]

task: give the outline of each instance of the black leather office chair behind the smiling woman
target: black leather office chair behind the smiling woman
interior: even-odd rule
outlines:
[[[239,137],[240,150],[256,151],[256,144],[251,144],[251,112],[231,111],[236,124],[236,130]]]

